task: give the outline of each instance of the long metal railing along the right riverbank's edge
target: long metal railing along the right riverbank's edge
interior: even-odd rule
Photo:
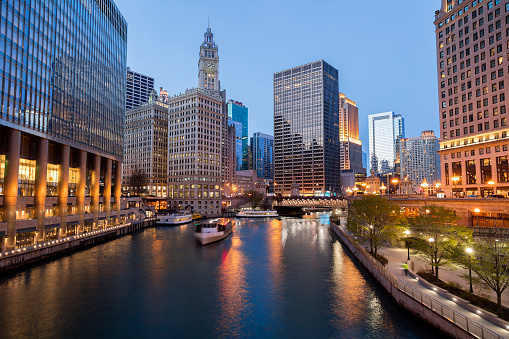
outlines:
[[[347,242],[347,246],[354,247],[359,253],[362,254],[364,259],[369,261],[369,263],[380,273],[382,274],[394,287],[396,287],[401,292],[405,293],[418,303],[426,306],[431,309],[435,313],[441,315],[445,319],[448,319],[453,324],[458,326],[459,328],[465,330],[467,333],[473,335],[477,338],[483,339],[504,339],[504,337],[496,334],[490,329],[484,327],[483,325],[475,322],[474,320],[466,317],[465,315],[458,313],[447,305],[444,305],[440,301],[430,297],[429,295],[419,291],[415,287],[407,284],[406,282],[396,278],[394,274],[389,272],[378,260],[373,258],[368,251],[366,251],[362,246],[357,243],[354,243],[350,237],[341,230],[336,224],[331,223],[333,227],[335,227],[344,237],[346,237],[349,241]],[[350,248],[351,249],[351,248]]]

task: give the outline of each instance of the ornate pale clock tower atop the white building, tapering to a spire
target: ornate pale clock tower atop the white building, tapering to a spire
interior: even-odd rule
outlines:
[[[200,46],[200,60],[198,61],[198,88],[219,93],[219,55],[214,42],[214,34],[207,28]]]

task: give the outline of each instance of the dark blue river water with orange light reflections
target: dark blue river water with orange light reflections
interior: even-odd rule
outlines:
[[[1,338],[436,338],[352,262],[328,214],[158,227],[0,276]]]

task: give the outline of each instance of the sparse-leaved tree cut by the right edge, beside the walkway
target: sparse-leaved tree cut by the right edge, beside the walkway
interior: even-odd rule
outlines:
[[[472,269],[472,282],[483,289],[490,289],[497,295],[497,313],[502,314],[502,293],[509,286],[509,244],[494,237],[486,237],[471,244],[471,255],[458,251],[458,262]],[[469,279],[467,275],[463,278]]]

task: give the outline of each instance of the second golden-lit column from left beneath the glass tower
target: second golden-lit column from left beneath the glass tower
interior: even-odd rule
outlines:
[[[35,243],[44,242],[44,218],[46,217],[46,190],[48,176],[48,139],[37,141],[37,157],[35,160],[35,194],[34,207],[37,219]]]

